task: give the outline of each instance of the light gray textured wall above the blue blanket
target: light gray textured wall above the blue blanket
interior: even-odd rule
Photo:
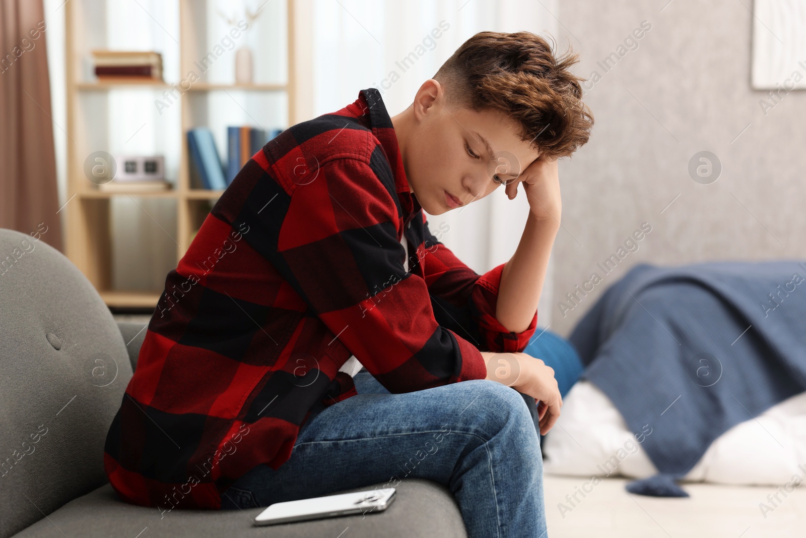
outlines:
[[[750,89],[750,0],[667,2],[559,2],[559,48],[570,43],[582,53],[580,76],[601,76],[586,98],[596,119],[591,140],[560,165],[551,328],[564,335],[639,262],[806,255],[806,92],[762,111],[767,92]],[[608,72],[597,65],[644,20],[651,29],[638,48]],[[721,161],[721,176],[709,185],[688,173],[700,151]],[[638,250],[625,248],[616,269],[602,271],[597,263],[644,222],[651,231]],[[576,305],[566,301],[573,308],[563,312],[559,302],[594,272],[602,282],[588,284],[592,292],[578,294]]]

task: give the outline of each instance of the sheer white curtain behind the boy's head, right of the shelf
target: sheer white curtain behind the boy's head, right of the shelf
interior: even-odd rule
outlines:
[[[409,106],[422,82],[478,31],[532,31],[557,39],[558,2],[301,0],[298,28],[310,36],[310,50],[303,46],[298,60],[301,72],[305,62],[312,68],[310,80],[301,84],[310,85],[310,114],[301,117],[339,110],[368,87],[381,90],[389,114],[395,115]],[[438,39],[432,38],[434,28],[439,30]],[[405,58],[409,60],[404,62]],[[528,211],[522,191],[510,201],[498,189],[461,212],[430,216],[429,222],[432,229],[446,222],[450,231],[442,242],[482,273],[515,252]],[[542,327],[550,323],[550,273],[539,308]]]

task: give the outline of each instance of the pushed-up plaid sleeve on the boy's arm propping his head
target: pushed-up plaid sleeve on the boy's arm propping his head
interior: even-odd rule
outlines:
[[[430,232],[425,214],[426,283],[440,323],[453,327],[481,351],[522,352],[538,324],[538,312],[523,332],[511,332],[496,319],[504,264],[479,275]]]

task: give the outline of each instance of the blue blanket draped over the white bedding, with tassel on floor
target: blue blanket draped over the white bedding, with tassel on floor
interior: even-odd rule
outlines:
[[[686,495],[713,440],[806,391],[806,263],[637,265],[570,340],[659,469],[628,489]]]

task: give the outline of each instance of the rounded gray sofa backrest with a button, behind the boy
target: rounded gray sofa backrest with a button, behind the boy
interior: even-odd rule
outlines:
[[[0,229],[0,305],[5,538],[107,482],[106,432],[131,364],[98,292],[44,240]]]

